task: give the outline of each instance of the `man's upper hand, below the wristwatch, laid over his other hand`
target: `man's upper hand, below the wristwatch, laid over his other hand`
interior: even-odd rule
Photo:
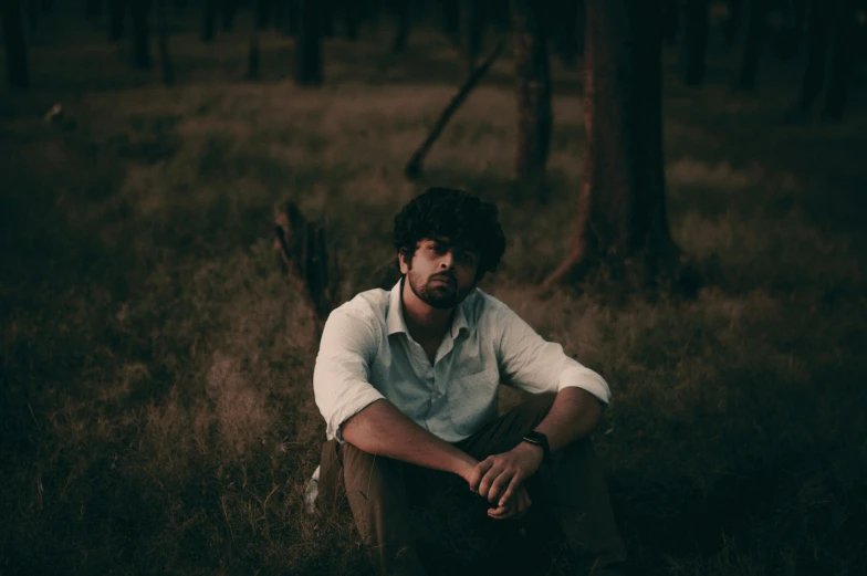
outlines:
[[[470,490],[497,503],[497,510],[502,509],[524,480],[539,470],[543,458],[542,448],[527,442],[521,442],[502,454],[490,455],[473,469]]]

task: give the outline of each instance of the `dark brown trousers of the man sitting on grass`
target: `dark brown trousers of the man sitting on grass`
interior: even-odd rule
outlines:
[[[544,419],[553,400],[553,394],[534,396],[456,446],[480,461],[506,452]],[[560,520],[570,548],[589,558],[594,574],[624,562],[626,552],[592,441],[584,438],[573,442],[553,453],[551,460],[525,482],[533,502],[531,510],[547,506]],[[409,505],[431,483],[455,484],[457,480],[468,498],[487,506],[459,476],[374,457],[336,440],[324,443],[321,467],[320,512],[336,504],[345,492],[370,561],[383,575],[426,574],[416,554]],[[341,476],[343,491],[338,488]],[[483,510],[479,512],[482,515]]]

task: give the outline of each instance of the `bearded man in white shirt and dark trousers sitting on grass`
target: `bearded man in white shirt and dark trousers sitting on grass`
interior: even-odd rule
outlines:
[[[400,281],[358,294],[323,329],[320,502],[333,503],[342,474],[379,572],[425,574],[408,495],[420,475],[450,472],[491,519],[544,502],[594,574],[617,574],[626,554],[588,438],[608,385],[476,287],[505,250],[497,207],[432,188],[397,214],[394,241]],[[534,396],[498,418],[501,383]]]

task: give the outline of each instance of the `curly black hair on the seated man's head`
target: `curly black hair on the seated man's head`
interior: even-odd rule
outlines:
[[[479,253],[479,280],[497,270],[505,252],[498,214],[497,206],[462,190],[428,188],[395,216],[395,249],[411,259],[419,241],[448,238],[449,244]]]

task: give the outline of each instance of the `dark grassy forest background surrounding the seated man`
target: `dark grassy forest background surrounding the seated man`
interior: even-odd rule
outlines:
[[[0,574],[367,574],[311,374],[429,186],[610,384],[639,573],[867,573],[861,0],[0,7]],[[433,573],[574,568],[437,509]]]

